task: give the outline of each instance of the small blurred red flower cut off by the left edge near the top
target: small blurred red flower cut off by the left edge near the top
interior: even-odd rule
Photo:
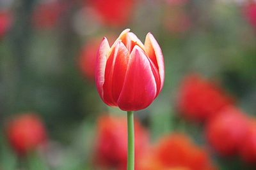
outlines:
[[[9,11],[0,11],[0,38],[6,34],[12,25],[12,15]]]

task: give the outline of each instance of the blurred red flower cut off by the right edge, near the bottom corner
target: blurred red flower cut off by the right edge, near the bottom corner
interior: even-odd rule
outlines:
[[[256,163],[256,120],[248,125],[248,132],[243,139],[240,155],[245,162]]]

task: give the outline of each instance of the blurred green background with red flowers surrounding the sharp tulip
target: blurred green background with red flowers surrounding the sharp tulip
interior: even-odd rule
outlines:
[[[256,169],[256,1],[0,0],[0,169],[125,169],[125,112],[94,62],[130,28],[165,82],[136,111],[136,169]]]

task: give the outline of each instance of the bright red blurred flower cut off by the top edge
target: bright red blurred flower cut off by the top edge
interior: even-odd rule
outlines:
[[[90,0],[92,8],[99,13],[102,22],[106,25],[125,25],[131,18],[134,0]]]

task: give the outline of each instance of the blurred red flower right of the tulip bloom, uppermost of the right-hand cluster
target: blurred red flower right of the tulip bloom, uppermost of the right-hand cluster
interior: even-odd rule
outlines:
[[[193,74],[182,81],[177,102],[180,113],[202,122],[232,104],[232,99],[211,81]]]

